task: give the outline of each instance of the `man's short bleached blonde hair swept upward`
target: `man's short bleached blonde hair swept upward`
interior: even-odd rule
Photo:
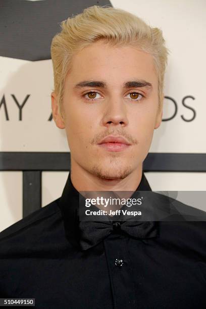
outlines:
[[[139,17],[108,6],[84,9],[81,14],[62,21],[61,28],[51,45],[54,91],[58,97],[61,116],[65,78],[71,66],[72,56],[99,39],[112,46],[135,45],[153,56],[158,76],[159,106],[162,105],[169,49],[165,47],[165,39],[159,28],[152,28]]]

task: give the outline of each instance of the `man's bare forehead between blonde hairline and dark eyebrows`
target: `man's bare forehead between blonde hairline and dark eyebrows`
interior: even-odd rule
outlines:
[[[68,79],[72,83],[82,79],[125,82],[131,78],[157,84],[153,57],[133,46],[111,46],[97,41],[84,47],[72,58]]]

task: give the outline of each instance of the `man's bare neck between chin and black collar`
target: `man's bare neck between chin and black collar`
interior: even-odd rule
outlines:
[[[124,179],[101,179],[71,160],[71,181],[77,191],[135,191],[142,177],[142,164]]]

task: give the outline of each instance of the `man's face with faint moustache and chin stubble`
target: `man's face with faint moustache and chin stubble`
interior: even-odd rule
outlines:
[[[142,165],[161,123],[152,56],[102,41],[83,48],[72,59],[63,109],[64,122],[59,114],[54,118],[66,129],[72,166],[100,178],[125,178]],[[130,145],[99,145],[109,135],[122,136]]]

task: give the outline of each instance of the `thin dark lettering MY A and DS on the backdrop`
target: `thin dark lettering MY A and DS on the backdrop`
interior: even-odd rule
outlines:
[[[18,120],[22,121],[23,120],[23,116],[22,116],[23,108],[24,108],[25,104],[27,103],[28,98],[30,97],[30,94],[25,95],[22,102],[19,102],[19,100],[18,100],[18,98],[16,97],[15,94],[11,94],[11,97],[12,97],[12,101],[17,106]],[[177,104],[176,100],[174,98],[170,97],[170,96],[165,96],[165,99],[169,99],[170,102],[172,102],[172,104],[174,105],[174,113],[169,118],[162,120],[162,121],[169,121],[169,120],[174,119],[175,117],[178,117],[178,104]],[[189,105],[189,102],[191,101],[191,99],[195,100],[194,96],[186,95],[186,96],[183,97],[183,99],[181,101],[181,104],[184,106],[185,111],[188,110],[188,109],[191,111],[191,116],[189,118],[186,118],[184,116],[184,114],[180,115],[182,120],[186,121],[186,122],[191,122],[196,117],[196,111]],[[9,101],[10,101],[10,99],[9,99]],[[0,101],[0,111],[1,111],[1,109],[4,110],[5,118],[6,118],[7,121],[9,121],[9,112],[8,112],[7,105],[8,104],[7,104],[7,101],[6,101],[6,97],[5,97],[5,95],[3,95],[3,97],[1,98],[1,101]],[[10,105],[11,105],[11,103],[10,103]],[[52,119],[53,119],[52,114],[50,114],[50,116],[48,117],[48,121],[52,121]]]

